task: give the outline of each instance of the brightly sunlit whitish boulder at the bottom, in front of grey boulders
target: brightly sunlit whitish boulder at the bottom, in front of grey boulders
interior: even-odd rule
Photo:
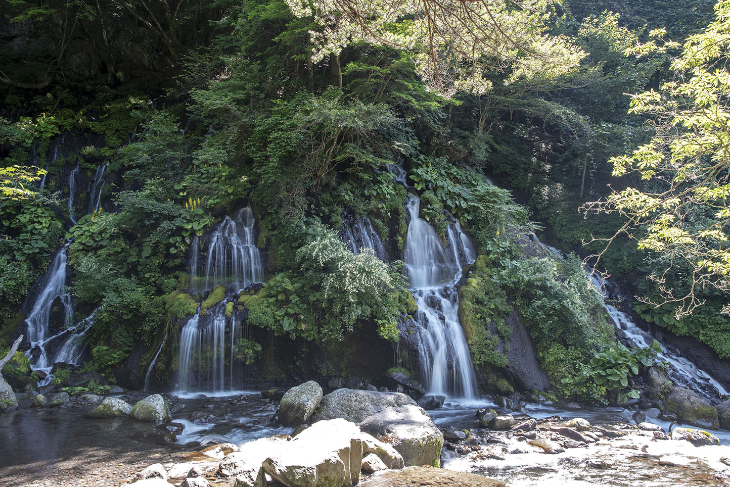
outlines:
[[[320,421],[296,435],[264,463],[287,487],[352,487],[363,461],[360,430],[344,419]]]

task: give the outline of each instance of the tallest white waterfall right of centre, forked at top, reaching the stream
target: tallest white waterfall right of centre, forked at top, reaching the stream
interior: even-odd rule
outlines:
[[[410,196],[410,225],[404,253],[405,273],[418,305],[421,379],[431,394],[474,398],[472,357],[458,318],[456,284],[461,268],[475,260],[475,248],[458,222],[448,227],[447,246],[431,225],[418,217],[420,200]]]

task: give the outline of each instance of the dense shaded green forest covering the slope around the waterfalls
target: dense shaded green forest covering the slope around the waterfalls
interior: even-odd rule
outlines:
[[[478,246],[460,315],[485,386],[515,386],[500,373],[498,346],[515,312],[558,394],[601,402],[626,391],[593,380],[596,354],[629,352],[579,259],[557,259],[529,235],[580,258],[602,252],[602,241],[582,243],[610,238],[623,219],[581,207],[609,185],[652,184],[613,177],[609,160],[651,136],[627,94],[672,77],[671,50],[626,50],[657,28],[683,42],[712,20],[713,2],[540,3],[546,35],[582,52],[573,66],[530,70],[529,52],[513,52],[478,65],[491,66],[479,73],[482,89],[449,93],[424,81],[406,47],[351,39],[316,55],[326,29],[280,0],[1,4],[2,165],[47,175],[42,188],[27,184],[37,190],[31,200],[0,200],[0,348],[23,332],[26,296],[67,241],[72,321],[96,310],[85,367],[123,381],[120,370],[139,362],[139,381],[167,331],[201,301],[223,300],[186,292],[187,256],[196,235],[248,202],[266,282],[231,310],[253,330],[237,344],[239,359],[261,377],[285,378],[313,349],[337,356],[338,343],[362,332],[397,341],[414,311],[402,263],[357,257],[337,237],[343,215],[368,215],[401,254],[407,193],[385,171],[393,164],[407,169],[442,237],[453,216]],[[69,174],[78,168],[88,183],[101,167],[98,209],[85,214],[88,194],[70,206]],[[630,295],[661,302],[646,277],[667,267],[665,257],[639,251],[635,238],[615,239],[599,268]],[[691,287],[689,268],[675,265],[663,285]],[[634,311],[730,358],[726,297],[697,292],[704,305],[681,319],[672,303],[637,301]],[[274,342],[293,354],[288,365],[272,365]],[[177,365],[169,347],[161,382]],[[337,360],[339,372],[354,367],[344,352]]]

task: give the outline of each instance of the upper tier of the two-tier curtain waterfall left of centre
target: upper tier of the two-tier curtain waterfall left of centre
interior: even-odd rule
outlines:
[[[216,227],[205,264],[205,289],[226,284],[240,290],[263,280],[264,265],[256,247],[255,223],[253,210],[247,206],[233,217],[226,216]]]

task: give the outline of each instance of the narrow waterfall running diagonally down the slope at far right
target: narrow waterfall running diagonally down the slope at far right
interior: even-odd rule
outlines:
[[[530,239],[558,257],[564,257],[565,255],[565,252],[560,249],[543,244],[539,241],[537,235],[531,235]],[[645,348],[650,346],[656,340],[659,345],[661,345],[661,351],[657,354],[657,358],[660,362],[669,363],[672,381],[694,391],[703,391],[705,387],[712,386],[712,388],[718,391],[718,394],[730,394],[721,385],[721,383],[712,378],[712,375],[700,369],[694,365],[694,363],[685,359],[685,357],[682,357],[678,351],[671,350],[669,346],[661,343],[661,340],[657,340],[649,332],[642,330],[636,323],[634,323],[634,320],[632,320],[629,315],[623,313],[623,311],[619,311],[610,303],[607,303],[605,300],[607,295],[606,288],[610,284],[610,281],[602,278],[598,271],[593,268],[585,266],[584,270],[588,274],[588,279],[591,281],[593,287],[595,287],[602,296],[604,308],[606,308],[614,326],[623,331],[623,334],[626,338],[631,340],[631,343],[634,343],[637,347]]]

